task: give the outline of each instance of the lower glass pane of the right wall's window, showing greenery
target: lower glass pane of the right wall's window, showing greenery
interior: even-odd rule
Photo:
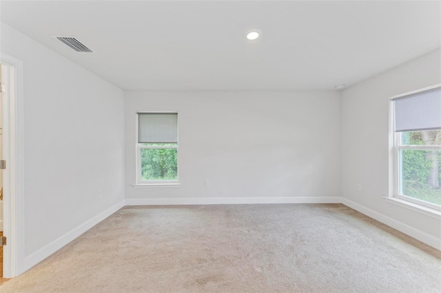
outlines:
[[[441,152],[402,149],[400,157],[401,194],[441,205]]]

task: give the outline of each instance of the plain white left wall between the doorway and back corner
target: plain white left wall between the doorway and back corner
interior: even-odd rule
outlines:
[[[23,61],[28,257],[123,201],[123,91],[5,23],[0,51]]]

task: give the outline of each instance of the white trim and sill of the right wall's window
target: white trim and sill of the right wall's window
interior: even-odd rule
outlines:
[[[411,94],[416,94],[420,91],[435,89],[436,87],[441,87],[441,84],[433,85],[430,87],[424,87],[423,89],[418,89],[416,91],[409,91],[407,93],[399,94],[389,98],[389,196],[384,198],[386,199],[387,202],[391,204],[397,204],[398,206],[403,206],[411,210],[417,210],[420,213],[439,218],[441,215],[441,206],[400,194],[401,193],[400,150],[402,149],[420,149],[420,150],[440,149],[441,150],[441,147],[427,146],[427,145],[406,145],[406,146],[400,145],[401,134],[399,132],[395,132],[395,103],[393,101],[394,99],[400,98],[402,96],[409,96]]]

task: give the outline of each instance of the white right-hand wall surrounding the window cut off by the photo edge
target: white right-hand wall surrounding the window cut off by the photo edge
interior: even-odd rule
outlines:
[[[373,76],[342,91],[341,109],[342,196],[435,239],[441,239],[439,219],[390,204],[383,196],[389,193],[389,98],[441,83],[440,65],[436,50]]]

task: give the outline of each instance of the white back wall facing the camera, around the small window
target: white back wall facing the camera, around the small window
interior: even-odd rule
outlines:
[[[181,188],[132,187],[136,111],[178,111]],[[125,197],[339,197],[339,128],[335,91],[129,91]]]

